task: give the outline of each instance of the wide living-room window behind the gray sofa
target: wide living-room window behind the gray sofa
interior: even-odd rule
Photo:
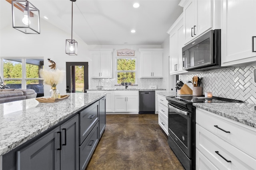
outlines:
[[[43,58],[2,58],[1,61],[1,77],[6,86],[44,92],[44,80],[39,75],[39,69],[44,66]]]

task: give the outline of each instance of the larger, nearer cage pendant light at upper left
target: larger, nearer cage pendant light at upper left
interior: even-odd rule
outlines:
[[[27,0],[12,1],[12,27],[25,34],[40,34],[40,12]]]

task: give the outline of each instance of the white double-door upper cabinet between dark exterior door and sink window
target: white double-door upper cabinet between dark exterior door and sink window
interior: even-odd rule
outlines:
[[[112,78],[113,49],[89,49],[92,58],[92,78]]]

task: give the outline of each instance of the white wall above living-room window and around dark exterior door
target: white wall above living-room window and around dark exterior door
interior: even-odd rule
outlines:
[[[7,4],[7,6],[5,6]],[[11,5],[4,1],[1,8],[10,8]],[[44,19],[40,20],[40,34],[25,34],[12,28],[12,15],[1,14],[0,29],[0,57],[44,57],[44,68],[48,68],[50,63],[48,58],[56,63],[56,68],[66,70],[66,62],[91,62],[88,45],[78,37],[74,37],[78,42],[78,55],[67,55],[65,52],[66,39],[71,39],[70,33],[66,33]],[[2,70],[0,66],[0,70]],[[2,73],[0,73],[2,74]],[[89,72],[90,74],[90,72]],[[89,79],[90,84],[90,79]],[[60,93],[66,92],[66,77],[57,88]],[[45,86],[45,92],[50,90],[50,86]],[[47,93],[46,93],[47,94]]]

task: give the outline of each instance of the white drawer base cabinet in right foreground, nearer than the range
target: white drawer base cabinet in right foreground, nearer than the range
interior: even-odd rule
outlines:
[[[196,109],[197,170],[255,170],[255,143],[255,128]]]

